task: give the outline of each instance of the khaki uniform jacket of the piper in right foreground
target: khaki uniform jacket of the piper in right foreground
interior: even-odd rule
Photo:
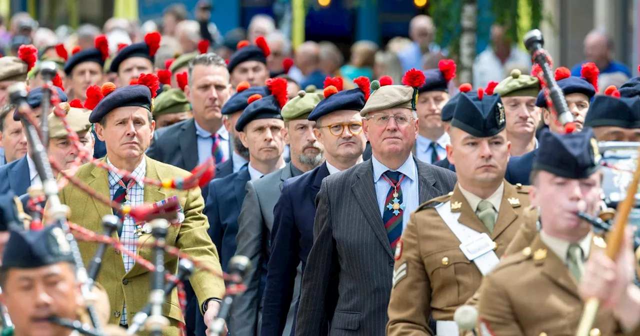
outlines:
[[[605,247],[598,236],[587,243],[590,250]],[[583,306],[578,283],[553,251],[538,234],[530,246],[506,257],[484,277],[478,304],[479,335],[575,335]],[[619,332],[611,312],[600,310],[589,335]]]

